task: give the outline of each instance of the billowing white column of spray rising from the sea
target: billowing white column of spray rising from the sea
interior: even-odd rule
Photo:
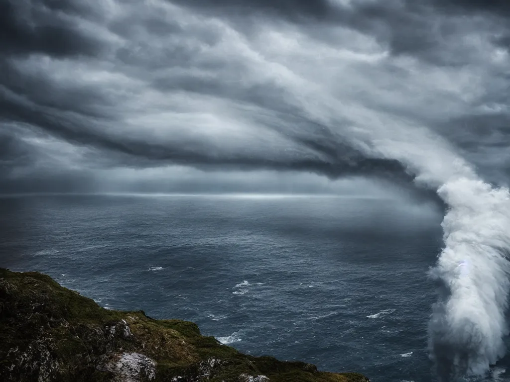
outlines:
[[[510,196],[460,177],[439,196],[445,247],[431,276],[440,284],[429,323],[430,357],[442,380],[484,374],[505,353],[510,283]]]

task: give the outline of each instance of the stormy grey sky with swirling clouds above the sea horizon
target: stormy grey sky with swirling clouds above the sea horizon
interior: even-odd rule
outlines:
[[[509,49],[504,0],[0,0],[0,192],[507,184]]]

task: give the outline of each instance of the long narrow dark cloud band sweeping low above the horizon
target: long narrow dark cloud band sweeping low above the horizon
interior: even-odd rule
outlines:
[[[110,155],[120,160],[127,166],[145,167],[159,166],[175,163],[179,165],[196,166],[202,169],[215,168],[256,170],[270,168],[275,170],[311,171],[324,174],[331,178],[345,175],[367,174],[373,176],[399,175],[402,179],[407,177],[402,165],[395,160],[367,158],[361,152],[341,144],[334,145],[331,142],[295,137],[293,140],[303,147],[309,147],[311,151],[322,154],[324,159],[317,156],[303,157],[271,157],[253,156],[242,153],[231,155],[217,155],[211,152],[212,143],[203,142],[200,145],[186,147],[180,142],[158,143],[135,140],[130,137],[111,137],[105,132],[90,128],[92,120],[86,122],[75,118],[62,118],[61,116],[47,114],[38,110],[28,110],[16,100],[4,97],[3,115],[6,119],[23,122],[28,125],[36,125],[45,131],[65,139],[68,142],[87,145],[96,149],[107,150],[105,155]],[[87,123],[88,122],[88,123]],[[14,137],[6,135],[0,139],[5,147],[4,154],[7,158],[22,159],[28,150],[21,150],[19,143]],[[22,155],[21,155],[22,154]],[[115,156],[115,154],[123,154]],[[18,157],[18,155],[21,155]],[[128,156],[126,158],[126,156]],[[23,160],[19,161],[19,164]],[[30,161],[24,161],[30,165]],[[7,165],[6,165],[7,166]],[[7,166],[8,167],[8,166]]]

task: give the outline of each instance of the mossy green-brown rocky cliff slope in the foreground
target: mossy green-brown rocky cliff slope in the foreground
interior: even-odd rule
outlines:
[[[251,357],[193,322],[100,308],[37,272],[0,268],[0,380],[365,382],[302,362]]]

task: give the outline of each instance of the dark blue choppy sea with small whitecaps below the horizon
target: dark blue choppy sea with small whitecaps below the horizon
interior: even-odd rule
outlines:
[[[431,204],[353,197],[0,198],[0,266],[196,322],[254,355],[432,381]]]

